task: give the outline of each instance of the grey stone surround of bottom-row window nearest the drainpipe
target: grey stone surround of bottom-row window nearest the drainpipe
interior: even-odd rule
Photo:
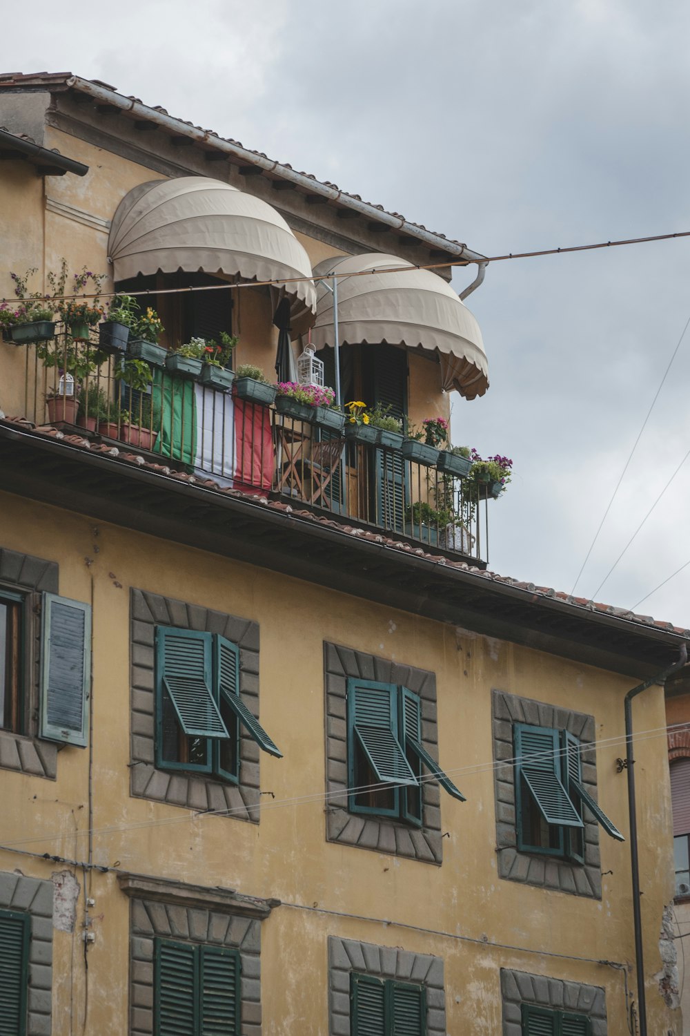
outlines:
[[[501,969],[503,1036],[522,1036],[522,1004],[587,1014],[592,1036],[606,1036],[606,994],[601,986]]]

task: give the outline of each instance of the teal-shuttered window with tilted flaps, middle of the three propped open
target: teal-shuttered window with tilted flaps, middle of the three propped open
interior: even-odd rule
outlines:
[[[350,811],[421,826],[424,769],[464,802],[422,745],[419,697],[395,684],[348,680]]]

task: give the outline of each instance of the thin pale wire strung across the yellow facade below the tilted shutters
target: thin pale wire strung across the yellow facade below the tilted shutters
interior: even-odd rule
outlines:
[[[636,743],[641,743],[646,741],[654,740],[659,737],[666,737],[669,730],[688,729],[690,728],[689,723],[673,723],[669,725],[664,725],[660,727],[650,727],[647,730],[640,730],[636,737]],[[580,744],[580,749],[582,751],[588,751],[588,749],[599,748],[614,748],[619,745],[626,744],[626,736],[616,736],[613,738],[602,738],[591,742],[582,742]],[[530,753],[530,758],[538,758],[540,755],[544,757],[561,757],[567,754],[566,748],[559,748],[554,751],[546,751],[543,753],[532,752]],[[473,764],[468,767],[459,767],[455,769],[446,769],[444,772],[448,777],[469,777],[475,774],[483,774],[489,771],[499,770],[504,767],[510,767],[516,761],[516,757],[506,758],[506,759],[491,759],[486,762]],[[437,778],[429,774],[423,775],[420,778],[419,783],[425,784],[429,782],[434,782]],[[385,785],[389,786],[389,785]],[[381,782],[372,784],[362,784],[355,787],[349,788],[338,788],[332,792],[312,792],[303,796],[294,796],[288,799],[276,799],[270,803],[262,804],[261,806],[233,806],[228,807],[228,809],[207,809],[207,810],[196,810],[188,807],[185,808],[184,815],[182,816],[172,816],[172,817],[158,817],[155,819],[139,821],[133,824],[122,824],[122,825],[111,825],[103,828],[92,828],[84,829],[79,832],[41,832],[39,834],[33,835],[30,838],[20,838],[12,841],[5,841],[2,839],[5,847],[11,848],[21,845],[32,845],[36,842],[41,841],[57,841],[59,842],[63,838],[73,837],[76,842],[78,837],[93,835],[107,835],[107,834],[121,834],[127,831],[141,831],[149,828],[162,828],[162,827],[174,827],[179,824],[189,824],[192,821],[203,821],[208,816],[234,816],[234,815],[246,815],[247,812],[260,812],[266,813],[274,809],[286,809],[295,808],[297,806],[308,806],[318,805],[323,803],[326,807],[330,804],[331,800],[337,801],[341,799],[343,794],[347,795],[357,795],[363,792],[372,790],[381,787]],[[167,805],[167,803],[161,803],[161,805]],[[169,804],[168,804],[169,805]]]

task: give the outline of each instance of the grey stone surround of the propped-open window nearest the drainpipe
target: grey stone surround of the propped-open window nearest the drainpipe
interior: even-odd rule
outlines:
[[[511,882],[523,882],[539,888],[553,889],[572,895],[601,899],[601,858],[599,825],[588,819],[584,810],[584,863],[561,860],[537,853],[518,851],[515,816],[515,772],[513,758],[513,723],[554,727],[569,730],[584,743],[595,740],[593,716],[560,709],[531,698],[518,697],[507,691],[493,690],[492,736],[496,792],[496,829],[499,876]],[[581,752],[582,784],[597,799],[596,753],[594,748]]]

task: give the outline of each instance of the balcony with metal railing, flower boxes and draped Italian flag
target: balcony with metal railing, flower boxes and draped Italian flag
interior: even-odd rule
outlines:
[[[164,353],[141,359],[142,379],[127,383],[123,353],[59,328],[49,343],[0,345],[8,415],[485,567],[491,486],[404,456],[390,437],[360,441],[355,428],[322,427],[316,411],[294,416],[280,400],[241,398],[238,383],[202,384],[164,366]]]

